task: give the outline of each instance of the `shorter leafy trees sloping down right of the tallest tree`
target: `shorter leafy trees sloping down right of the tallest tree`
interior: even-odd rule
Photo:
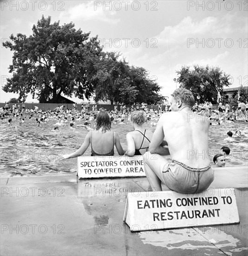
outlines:
[[[133,104],[148,104],[161,100],[161,87],[148,77],[143,67],[131,66],[116,52],[102,54],[101,61],[95,63],[95,101],[110,100]]]

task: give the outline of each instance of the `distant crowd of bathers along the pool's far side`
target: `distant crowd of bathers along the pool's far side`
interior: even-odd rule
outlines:
[[[88,121],[89,119],[95,118],[95,115],[99,112],[97,108],[97,104],[92,107],[92,111],[89,110],[90,105],[82,104],[81,111],[77,110],[77,104],[73,104],[73,109],[65,109],[64,105],[58,105],[58,107],[54,108],[53,110],[48,109],[47,111],[43,111],[39,109],[38,106],[34,106],[34,109],[29,109],[25,107],[25,103],[22,104],[13,104],[12,108],[10,108],[10,104],[6,103],[4,108],[0,108],[0,118],[2,122],[6,121],[7,117],[15,118],[20,122],[25,121],[28,117],[32,119],[33,116],[38,116],[42,118],[41,121],[58,121],[63,123],[63,121],[68,121],[69,118],[74,119],[83,119]],[[121,105],[118,107],[117,105],[114,106],[114,110],[108,111],[110,118],[114,118],[114,123],[124,123],[127,119],[128,115],[132,113],[134,110],[143,110],[146,113],[147,121],[150,121],[151,126],[156,126],[157,121],[159,120],[161,114],[165,112],[170,112],[171,108],[165,106],[162,109],[161,105],[158,105],[158,109],[148,108],[147,104],[141,105],[138,107],[132,105],[131,107],[126,107],[126,105]],[[105,110],[101,108],[99,110]],[[213,109],[213,105],[211,102],[205,102],[198,104],[195,102],[194,106],[192,107],[193,112],[197,112],[199,115],[204,115],[208,117],[210,121],[210,125],[221,125],[222,123],[232,123],[235,120],[243,120],[248,121],[248,101],[246,104],[244,102],[238,101],[238,108],[231,108],[229,104],[222,105],[220,102],[216,109]],[[57,113],[57,114],[56,114]],[[30,118],[31,117],[31,118]],[[66,119],[65,119],[66,117]],[[33,119],[32,119],[33,120]],[[40,121],[40,120],[39,120]]]

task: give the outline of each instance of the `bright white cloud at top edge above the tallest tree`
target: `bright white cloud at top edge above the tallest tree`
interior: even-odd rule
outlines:
[[[68,11],[60,14],[60,19],[67,18],[69,20],[101,20],[107,23],[116,24],[120,19],[109,18],[114,16],[115,11],[109,9],[104,10],[104,6],[101,1],[89,1],[87,3],[81,3],[74,7],[70,7]]]

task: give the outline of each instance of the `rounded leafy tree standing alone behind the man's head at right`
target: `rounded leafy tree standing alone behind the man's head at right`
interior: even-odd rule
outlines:
[[[180,88],[190,90],[195,99],[199,95],[200,102],[212,101],[216,104],[218,92],[222,94],[223,88],[231,84],[230,75],[225,74],[220,67],[183,66],[176,73],[179,76],[177,81],[180,83]]]

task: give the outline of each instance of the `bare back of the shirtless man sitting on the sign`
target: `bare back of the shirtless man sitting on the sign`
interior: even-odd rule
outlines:
[[[207,155],[209,121],[205,116],[182,110],[165,113],[160,121],[171,159],[193,168],[209,165],[210,160]]]

